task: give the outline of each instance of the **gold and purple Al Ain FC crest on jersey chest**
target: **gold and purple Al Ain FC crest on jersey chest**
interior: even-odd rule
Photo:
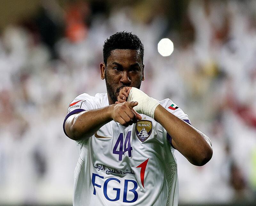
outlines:
[[[152,132],[152,122],[148,120],[137,121],[135,132],[141,142],[148,139]]]

